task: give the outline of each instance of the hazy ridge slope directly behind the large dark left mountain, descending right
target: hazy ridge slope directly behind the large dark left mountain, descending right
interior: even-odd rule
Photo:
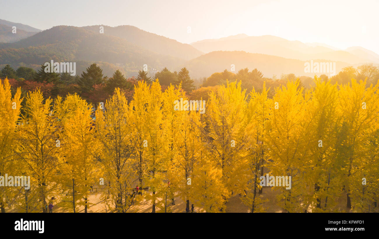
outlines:
[[[159,36],[154,33],[149,33],[130,25],[103,27],[105,35],[120,37],[135,45],[143,47],[152,52],[160,53],[162,55],[169,55],[189,60],[204,54],[189,44],[183,44],[173,39]],[[83,28],[99,34],[100,25]]]

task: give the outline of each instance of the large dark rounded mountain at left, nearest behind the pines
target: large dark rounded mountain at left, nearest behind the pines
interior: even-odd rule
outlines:
[[[80,27],[57,26],[18,42],[0,44],[0,64],[38,66],[52,59],[57,62],[108,62],[131,75],[136,75],[144,64],[149,70],[165,66],[172,69],[185,62],[146,50],[120,37]]]

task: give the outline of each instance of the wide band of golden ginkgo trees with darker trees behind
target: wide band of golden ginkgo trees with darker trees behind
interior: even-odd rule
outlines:
[[[378,212],[379,84],[359,79],[359,69],[338,80],[349,70],[309,87],[256,69],[247,80],[215,73],[194,89],[185,68],[162,87],[159,74],[105,79],[94,64],[74,79],[79,93],[67,94],[54,93],[58,76],[38,80],[42,71],[28,91],[18,85],[25,79],[6,76],[0,175],[30,176],[31,186],[0,187],[1,211],[46,212],[54,202],[87,212],[101,202],[112,212],[138,204],[166,212],[179,197],[186,208],[226,212],[238,197],[249,212],[265,212],[264,195],[275,191],[271,203],[285,212]],[[175,110],[181,98],[206,100],[205,113]],[[262,187],[266,173],[291,176],[290,189]]]

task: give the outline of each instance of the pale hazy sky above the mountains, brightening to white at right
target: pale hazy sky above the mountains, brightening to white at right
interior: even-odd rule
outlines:
[[[274,35],[379,54],[378,10],[378,0],[0,0],[0,19],[41,30],[133,25],[183,43],[240,33]]]

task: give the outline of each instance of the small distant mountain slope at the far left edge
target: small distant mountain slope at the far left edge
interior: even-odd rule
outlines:
[[[12,27],[16,27],[16,33],[12,32]],[[41,30],[28,25],[0,19],[0,43],[16,42],[29,36],[33,36],[39,31]]]

